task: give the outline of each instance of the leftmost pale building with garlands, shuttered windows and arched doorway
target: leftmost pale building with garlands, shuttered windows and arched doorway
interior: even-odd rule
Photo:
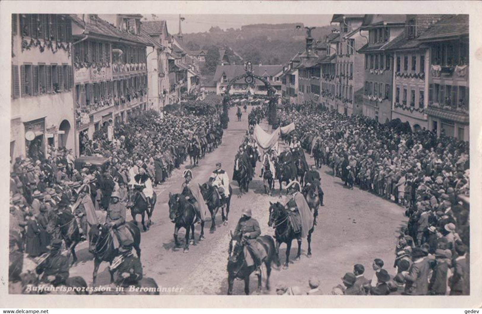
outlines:
[[[71,19],[12,14],[10,157],[74,149]]]

